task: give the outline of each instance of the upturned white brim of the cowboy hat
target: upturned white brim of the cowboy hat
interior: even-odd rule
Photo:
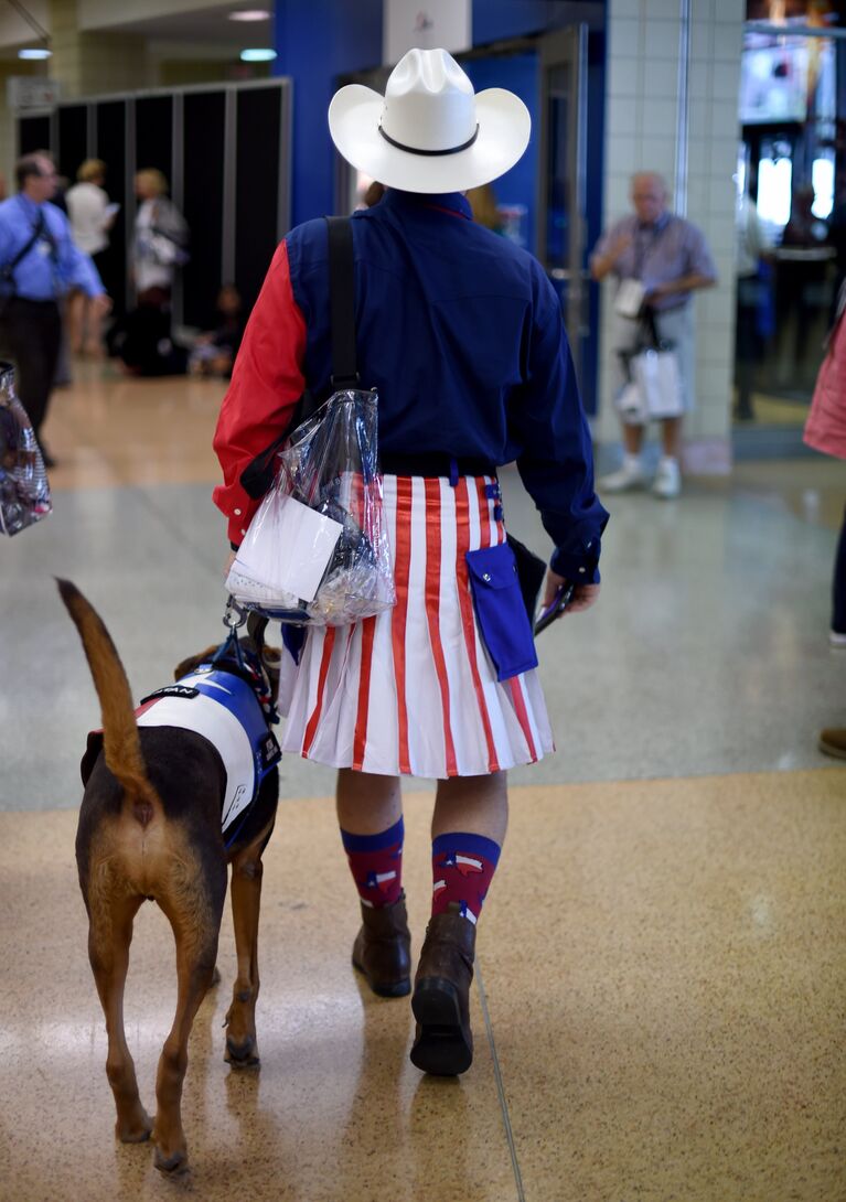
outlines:
[[[489,184],[514,166],[531,136],[529,109],[504,88],[476,95],[478,135],[455,154],[415,154],[392,145],[379,132],[383,107],[377,91],[347,84],[329,105],[329,133],[353,167],[405,192],[463,192]]]

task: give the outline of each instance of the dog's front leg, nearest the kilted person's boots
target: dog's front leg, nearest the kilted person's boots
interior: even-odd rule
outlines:
[[[233,1069],[257,1069],[256,999],[258,998],[258,911],[262,897],[262,852],[273,822],[232,861],[232,923],[236,933],[238,978],[226,1016],[225,1060]]]

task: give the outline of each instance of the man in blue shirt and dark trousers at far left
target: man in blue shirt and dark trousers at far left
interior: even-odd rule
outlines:
[[[112,303],[90,257],[71,239],[67,218],[50,204],[56,188],[50,160],[24,155],[16,173],[18,194],[0,203],[0,339],[17,365],[18,393],[38,438],[61,343],[60,298],[76,286],[100,315]],[[43,442],[42,453],[53,466]]]

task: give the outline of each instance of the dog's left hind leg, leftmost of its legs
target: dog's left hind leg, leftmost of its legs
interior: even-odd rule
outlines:
[[[115,1132],[124,1143],[149,1139],[153,1123],[141,1105],[135,1063],[124,1034],[124,986],[130,963],[132,921],[143,897],[107,897],[101,891],[85,898],[89,905],[88,956],[106,1016],[108,1076],[118,1111]]]

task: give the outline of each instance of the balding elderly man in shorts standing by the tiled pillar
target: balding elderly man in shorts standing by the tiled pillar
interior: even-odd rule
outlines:
[[[649,308],[655,315],[659,338],[675,350],[684,409],[690,410],[696,362],[691,296],[697,288],[716,284],[716,268],[702,231],[667,209],[667,185],[661,175],[654,172],[633,175],[631,200],[634,214],[612,226],[600,238],[590,258],[595,280],[607,275],[616,280],[612,340],[614,394],[626,382],[625,355],[636,349],[643,311]],[[653,492],[665,499],[681,492],[681,417],[661,421],[663,454]],[[643,436],[643,426],[622,424],[622,466],[606,476],[600,482],[601,488],[622,493],[647,483],[641,458]]]

